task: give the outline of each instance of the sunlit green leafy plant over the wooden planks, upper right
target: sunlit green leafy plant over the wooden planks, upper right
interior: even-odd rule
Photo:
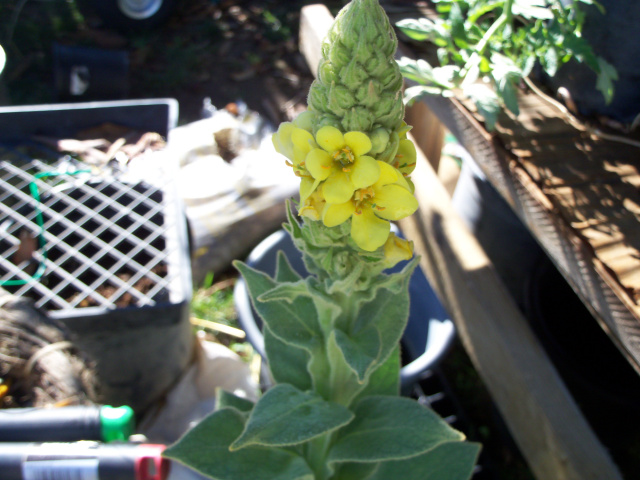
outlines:
[[[596,88],[607,102],[614,95],[615,68],[597,56],[582,37],[581,4],[595,0],[434,0],[438,18],[397,23],[408,37],[437,47],[439,66],[403,58],[402,74],[420,85],[407,89],[407,101],[423,95],[471,98],[493,130],[500,109],[518,115],[517,89],[539,63],[553,77],[575,59],[597,74]]]

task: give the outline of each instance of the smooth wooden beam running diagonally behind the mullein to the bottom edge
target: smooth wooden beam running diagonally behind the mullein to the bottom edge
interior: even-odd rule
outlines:
[[[305,45],[305,55],[316,55],[308,62],[319,58],[314,48],[319,51],[331,23],[312,7],[301,12],[301,38],[319,39],[315,47]],[[429,281],[534,474],[540,480],[621,479],[433,168],[418,154],[412,179],[420,209],[401,226],[416,243]]]

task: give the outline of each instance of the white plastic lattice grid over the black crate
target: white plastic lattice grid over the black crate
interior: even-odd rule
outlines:
[[[168,301],[162,188],[64,173],[28,150],[0,151],[0,287],[45,311]]]

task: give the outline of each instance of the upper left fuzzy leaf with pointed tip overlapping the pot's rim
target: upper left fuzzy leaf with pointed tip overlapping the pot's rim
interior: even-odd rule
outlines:
[[[306,293],[304,283],[301,281],[300,284],[284,284],[290,286],[292,290],[284,292],[283,284],[276,283],[265,273],[242,262],[234,262],[234,265],[247,282],[254,308],[271,332],[285,343],[306,349],[313,348],[313,344],[320,336],[314,303],[308,296],[293,296],[293,291]],[[286,298],[287,293],[291,298],[268,302],[256,301],[258,297],[268,296],[276,289],[280,292],[280,295],[274,295],[276,298]]]

